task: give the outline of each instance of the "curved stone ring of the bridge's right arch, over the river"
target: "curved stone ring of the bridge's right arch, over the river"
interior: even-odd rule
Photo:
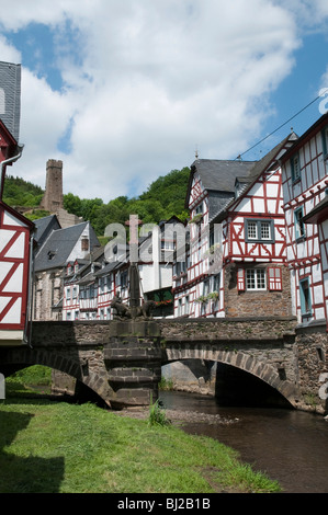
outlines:
[[[244,370],[275,389],[293,408],[297,408],[297,389],[289,381],[283,370],[270,364],[263,364],[250,354],[241,351],[213,350],[200,346],[166,346],[163,363],[183,362],[184,359],[204,359],[229,365]]]

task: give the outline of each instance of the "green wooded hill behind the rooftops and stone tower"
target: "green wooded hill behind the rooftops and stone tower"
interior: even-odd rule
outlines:
[[[109,224],[125,224],[129,215],[138,215],[144,224],[158,224],[177,216],[184,221],[189,214],[184,208],[190,169],[172,170],[154,181],[138,197],[118,196],[105,204],[101,198],[84,198],[68,193],[64,195],[64,207],[73,215],[89,220],[98,236],[104,234]],[[30,219],[41,218],[47,213],[38,209],[43,197],[39,186],[20,178],[7,176],[3,202],[12,207],[31,207],[25,214]]]

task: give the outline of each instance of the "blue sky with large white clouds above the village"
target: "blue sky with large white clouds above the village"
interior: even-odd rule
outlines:
[[[195,148],[260,159],[321,115],[326,96],[283,125],[328,89],[326,0],[0,8],[0,60],[22,65],[24,152],[10,173],[43,187],[46,161],[60,159],[65,193],[135,196]]]

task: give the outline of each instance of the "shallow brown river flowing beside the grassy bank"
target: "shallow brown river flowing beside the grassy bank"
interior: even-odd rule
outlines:
[[[161,391],[167,410],[220,415],[229,424],[183,424],[190,434],[211,436],[239,453],[255,470],[276,480],[284,493],[328,493],[328,422],[296,410],[222,408],[215,398]]]

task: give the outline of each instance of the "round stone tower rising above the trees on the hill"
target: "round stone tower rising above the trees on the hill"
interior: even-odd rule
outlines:
[[[63,208],[63,161],[47,161],[46,191],[42,199],[42,209],[58,213]]]

